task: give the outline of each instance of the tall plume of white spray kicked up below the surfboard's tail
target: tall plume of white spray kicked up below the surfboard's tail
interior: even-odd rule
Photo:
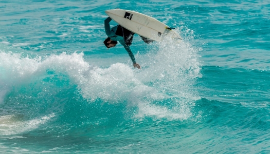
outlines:
[[[136,78],[158,91],[159,97],[140,101],[136,116],[186,120],[200,99],[193,87],[196,78],[201,78],[200,50],[189,42],[168,37],[154,46],[157,51],[151,51],[155,54],[149,54],[143,64],[148,67],[138,71]]]

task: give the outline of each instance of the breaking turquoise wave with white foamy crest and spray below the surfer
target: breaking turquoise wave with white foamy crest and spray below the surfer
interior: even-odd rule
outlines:
[[[187,120],[200,99],[192,87],[201,77],[197,50],[188,43],[171,40],[155,45],[158,48],[142,58],[145,67],[141,70],[124,63],[99,67],[77,52],[33,56],[2,49],[0,116],[7,119],[23,115],[22,125],[39,119],[34,122],[35,128],[46,123],[46,117],[58,123],[70,122],[76,111],[82,111],[71,120],[78,123],[81,117],[93,117],[89,110],[109,103],[109,110],[120,105],[131,119]]]

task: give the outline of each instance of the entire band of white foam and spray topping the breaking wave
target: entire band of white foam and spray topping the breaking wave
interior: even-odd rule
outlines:
[[[192,89],[194,79],[200,77],[198,50],[185,41],[175,44],[170,39],[156,43],[149,55],[139,55],[141,70],[129,64],[116,63],[107,68],[85,62],[83,53],[61,53],[47,57],[29,58],[21,54],[0,52],[0,90],[14,84],[30,81],[30,76],[47,75],[47,70],[66,73],[70,83],[77,85],[83,98],[89,102],[101,99],[109,103],[128,102],[138,107],[135,117],[187,119],[190,108],[198,98]],[[0,98],[4,98],[2,94]],[[176,98],[170,109],[153,104]],[[169,102],[170,103],[170,102]],[[46,120],[43,120],[46,121]],[[35,124],[34,121],[33,125]],[[39,123],[39,122],[37,122]],[[40,122],[41,123],[41,122]]]

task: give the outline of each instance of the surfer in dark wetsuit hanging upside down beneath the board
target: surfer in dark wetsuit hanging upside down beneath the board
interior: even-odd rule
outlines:
[[[140,65],[136,63],[134,54],[130,49],[130,45],[132,44],[134,33],[125,29],[124,27],[117,25],[111,29],[110,22],[112,21],[111,17],[107,17],[104,21],[105,33],[108,36],[103,42],[107,48],[115,47],[117,41],[124,47],[125,50],[128,51],[129,56],[133,62],[134,68],[140,69]]]

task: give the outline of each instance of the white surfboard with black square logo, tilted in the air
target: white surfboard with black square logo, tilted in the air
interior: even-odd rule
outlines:
[[[172,28],[148,15],[121,9],[107,10],[105,13],[122,27],[151,40],[162,41],[164,36],[182,40]]]

